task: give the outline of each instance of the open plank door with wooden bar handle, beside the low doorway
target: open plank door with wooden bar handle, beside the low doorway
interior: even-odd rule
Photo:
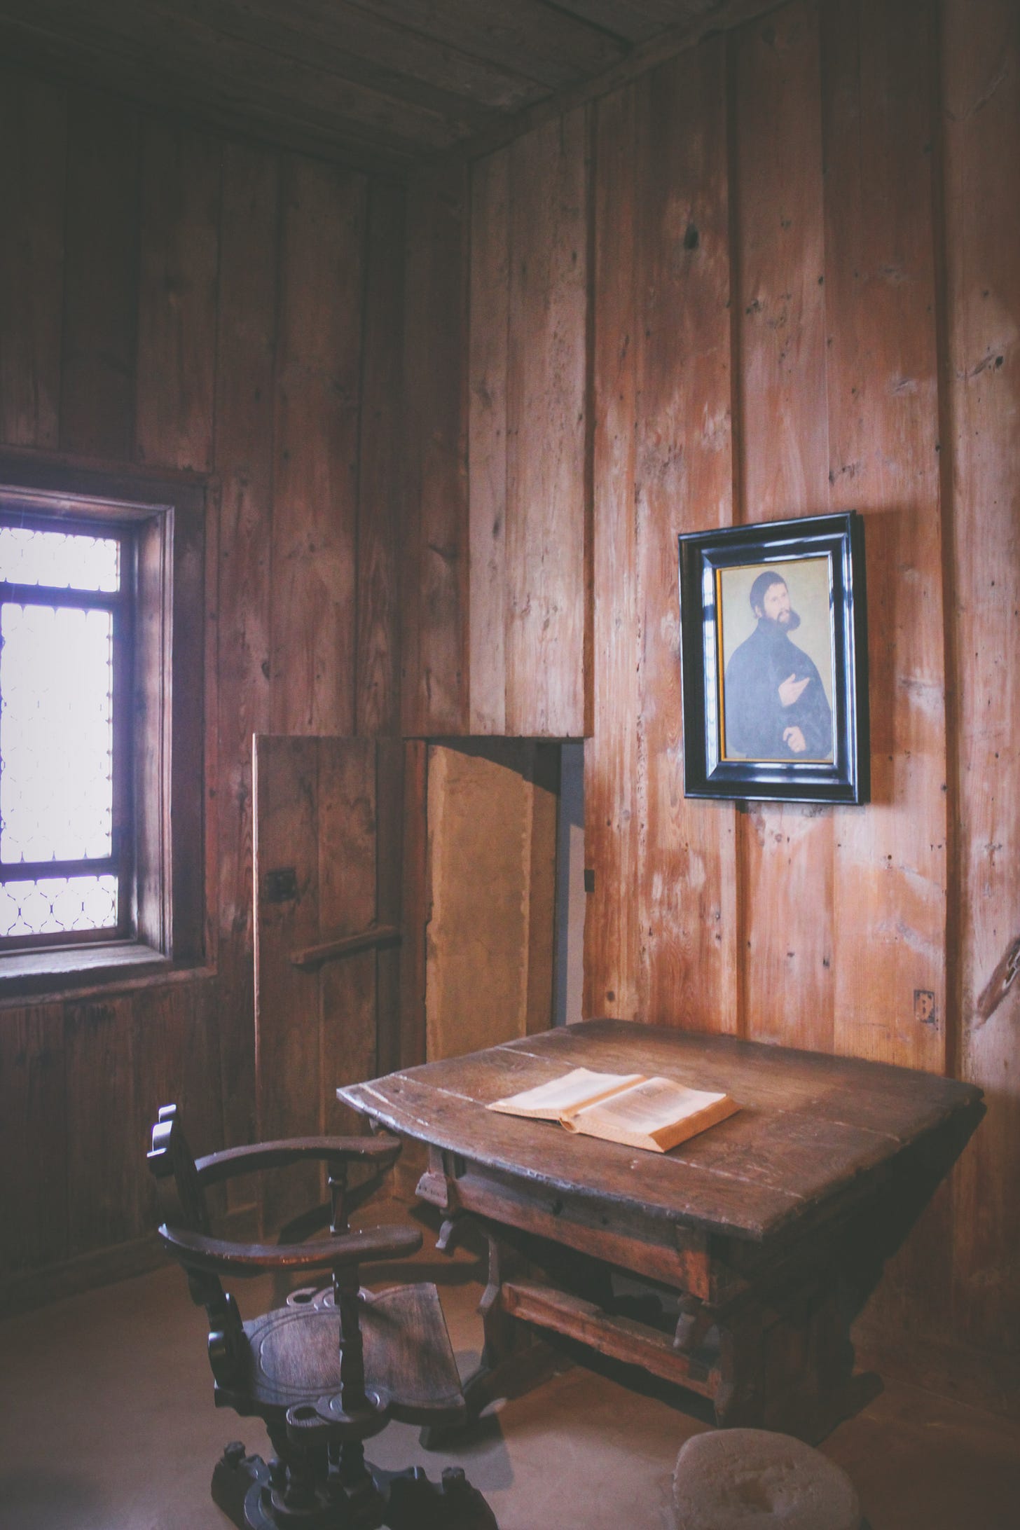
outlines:
[[[416,748],[407,745],[411,791]],[[399,741],[254,739],[261,1140],[364,1129],[336,1086],[419,1060],[401,1057],[404,760]],[[407,988],[413,1002],[413,976]],[[312,1204],[317,1175],[269,1178],[269,1226]]]

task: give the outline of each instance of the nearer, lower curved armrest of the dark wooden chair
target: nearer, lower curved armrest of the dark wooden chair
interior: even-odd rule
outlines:
[[[369,1259],[402,1259],[422,1247],[422,1235],[416,1227],[370,1227],[307,1244],[236,1244],[164,1222],[159,1236],[185,1270],[206,1270],[211,1274],[333,1270]]]

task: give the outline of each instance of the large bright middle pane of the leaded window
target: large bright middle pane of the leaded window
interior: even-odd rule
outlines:
[[[112,854],[113,618],[0,612],[0,858]],[[61,926],[63,927],[63,926]]]

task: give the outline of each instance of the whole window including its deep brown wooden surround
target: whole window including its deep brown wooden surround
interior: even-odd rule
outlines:
[[[203,955],[194,482],[0,459],[0,987]]]

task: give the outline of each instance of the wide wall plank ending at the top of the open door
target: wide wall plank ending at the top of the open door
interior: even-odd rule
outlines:
[[[350,733],[365,182],[284,159],[272,727]]]

